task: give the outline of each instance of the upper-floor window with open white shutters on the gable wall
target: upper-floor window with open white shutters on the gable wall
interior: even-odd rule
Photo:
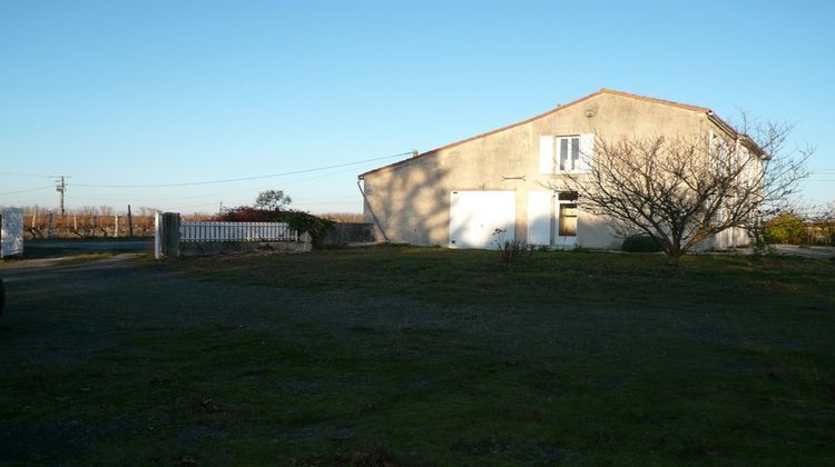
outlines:
[[[590,169],[595,135],[540,137],[540,173],[584,173]]]

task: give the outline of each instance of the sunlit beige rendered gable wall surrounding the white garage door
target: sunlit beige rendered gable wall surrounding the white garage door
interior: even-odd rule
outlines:
[[[587,112],[593,116],[588,117]],[[391,241],[444,247],[449,244],[451,191],[513,190],[515,238],[525,240],[528,192],[546,190],[540,183],[548,180],[548,176],[539,173],[540,136],[692,136],[705,135],[713,127],[704,112],[600,93],[524,125],[366,173],[364,187],[369,203]],[[367,206],[365,220],[373,221]],[[620,241],[605,218],[580,212],[579,246],[618,248]]]

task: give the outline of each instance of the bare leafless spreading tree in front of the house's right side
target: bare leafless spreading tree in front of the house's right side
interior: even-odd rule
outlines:
[[[696,244],[729,229],[758,235],[808,175],[813,150],[786,150],[789,125],[727,132],[608,139],[597,135],[589,168],[548,183],[579,193],[580,208],[607,216],[622,237],[656,238],[677,266]],[[748,136],[748,133],[753,136]]]

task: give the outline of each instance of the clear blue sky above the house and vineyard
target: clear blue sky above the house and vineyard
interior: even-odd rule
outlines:
[[[0,0],[0,205],[361,212],[389,161],[600,88],[796,122],[835,199],[835,2]]]

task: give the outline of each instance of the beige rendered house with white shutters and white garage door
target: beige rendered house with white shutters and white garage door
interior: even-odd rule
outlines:
[[[710,109],[601,89],[519,123],[453,142],[358,176],[366,222],[377,238],[450,248],[491,248],[500,240],[551,248],[619,248],[607,219],[578,209],[576,192],[549,180],[588,168],[595,135],[714,135],[735,130]],[[706,245],[747,244],[741,229]]]

